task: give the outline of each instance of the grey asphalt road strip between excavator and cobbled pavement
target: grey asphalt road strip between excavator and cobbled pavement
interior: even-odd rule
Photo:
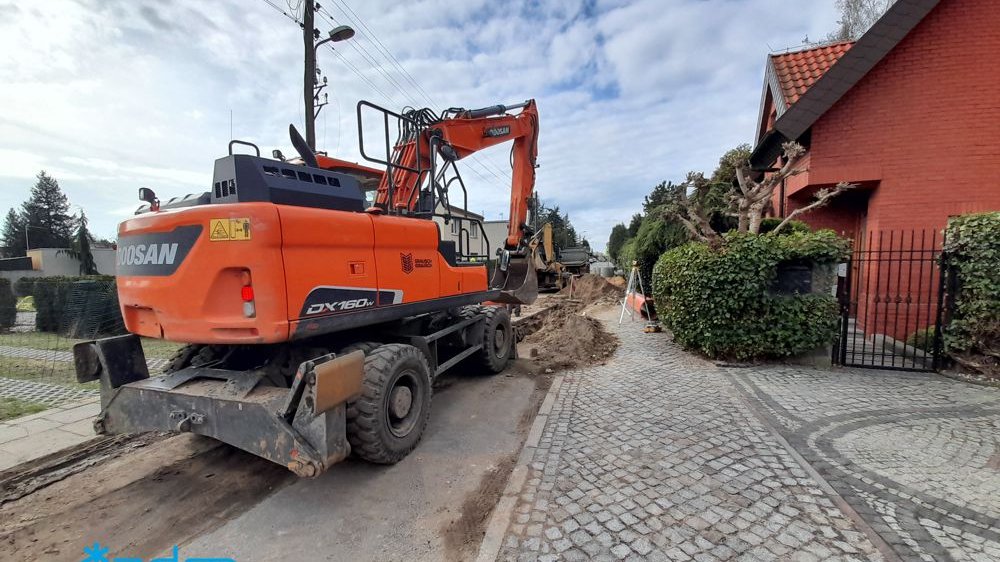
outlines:
[[[442,380],[423,441],[402,462],[349,460],[296,481],[181,545],[182,555],[238,562],[474,557],[542,395],[517,374],[524,372],[515,366],[494,377]]]

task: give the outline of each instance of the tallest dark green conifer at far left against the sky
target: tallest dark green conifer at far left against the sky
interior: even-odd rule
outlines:
[[[59,188],[59,182],[44,170],[31,188],[31,196],[21,207],[21,218],[27,224],[30,248],[66,248],[73,237],[73,217],[69,200]]]

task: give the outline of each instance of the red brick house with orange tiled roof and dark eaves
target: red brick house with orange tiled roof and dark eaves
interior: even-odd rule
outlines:
[[[771,214],[840,181],[859,187],[801,218],[856,240],[940,233],[949,216],[1000,209],[998,53],[996,0],[898,0],[854,43],[769,56],[751,164],[773,168],[781,144],[796,140],[808,168],[775,194]],[[903,338],[933,323],[910,321],[913,299],[880,287],[878,273],[859,274],[860,300],[882,315],[858,314],[866,332]],[[886,324],[904,313],[907,324]]]

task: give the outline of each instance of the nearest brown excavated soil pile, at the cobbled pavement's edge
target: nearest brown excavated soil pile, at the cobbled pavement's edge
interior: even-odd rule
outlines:
[[[546,373],[607,361],[618,349],[618,338],[597,320],[578,314],[579,308],[556,305],[521,324],[521,356]]]

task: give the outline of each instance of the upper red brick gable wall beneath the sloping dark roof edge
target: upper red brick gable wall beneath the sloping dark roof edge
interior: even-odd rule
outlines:
[[[995,1],[943,0],[813,126],[810,183],[877,180],[869,230],[1000,209],[998,52]]]

